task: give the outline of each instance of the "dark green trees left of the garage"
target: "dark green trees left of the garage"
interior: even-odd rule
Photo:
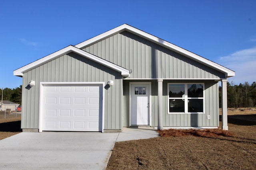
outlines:
[[[0,89],[0,102],[2,100],[2,89]],[[22,97],[22,85],[16,88],[4,88],[3,89],[3,100],[8,100],[10,102],[18,103],[21,105]]]

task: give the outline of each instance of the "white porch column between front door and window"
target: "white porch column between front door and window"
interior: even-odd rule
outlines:
[[[163,79],[158,79],[158,130],[163,130]]]

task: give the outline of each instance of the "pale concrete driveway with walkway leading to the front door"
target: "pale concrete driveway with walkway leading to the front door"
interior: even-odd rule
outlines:
[[[106,168],[116,141],[157,137],[153,129],[121,133],[23,132],[0,140],[0,169]]]

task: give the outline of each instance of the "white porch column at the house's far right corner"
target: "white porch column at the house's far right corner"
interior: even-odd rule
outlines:
[[[228,98],[227,98],[227,79],[221,80],[221,99],[222,99],[222,129],[228,130]]]

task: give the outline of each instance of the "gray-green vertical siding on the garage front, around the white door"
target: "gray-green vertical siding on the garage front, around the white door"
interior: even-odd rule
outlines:
[[[26,89],[35,80],[35,86]],[[107,66],[91,61],[76,53],[69,53],[23,74],[22,129],[38,129],[40,82],[105,82],[114,81],[104,89],[104,129],[122,129],[122,76]]]

